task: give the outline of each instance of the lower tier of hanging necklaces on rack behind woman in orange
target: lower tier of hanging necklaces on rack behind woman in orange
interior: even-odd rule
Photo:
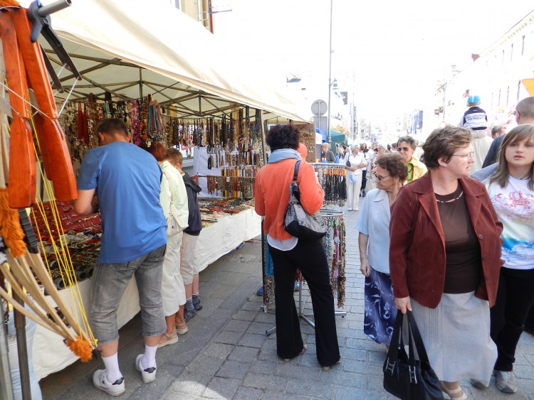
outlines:
[[[323,237],[323,246],[325,247],[328,269],[330,273],[330,284],[334,296],[337,298],[337,308],[342,308],[345,304],[345,217],[343,212],[320,210],[320,214],[325,218],[328,229]],[[273,259],[269,254],[268,246],[262,242],[263,247],[263,306],[269,306],[274,303],[274,272]],[[302,282],[303,277],[300,271],[297,271],[295,277]]]

